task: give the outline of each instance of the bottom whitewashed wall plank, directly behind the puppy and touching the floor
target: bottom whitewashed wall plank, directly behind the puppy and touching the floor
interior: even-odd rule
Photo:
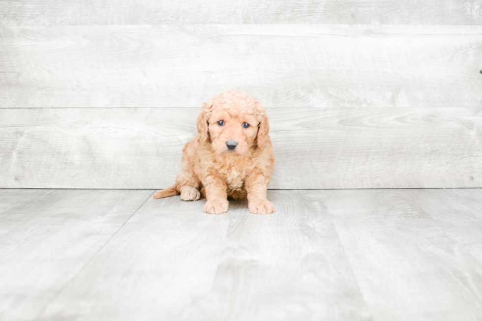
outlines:
[[[1,109],[0,187],[169,186],[198,112]],[[277,157],[270,188],[482,187],[481,108],[268,114]]]

